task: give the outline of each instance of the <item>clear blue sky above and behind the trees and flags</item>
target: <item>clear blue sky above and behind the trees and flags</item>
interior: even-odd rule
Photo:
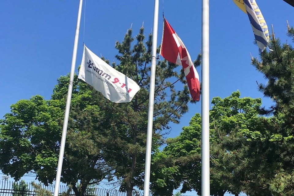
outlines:
[[[70,72],[78,0],[1,1],[0,6],[0,117],[10,105],[21,99],[41,95],[50,99],[56,79]],[[282,0],[257,0],[258,6],[276,37],[285,42],[286,20],[294,25],[294,8]],[[160,0],[158,40],[162,36],[164,16],[195,59],[201,49],[201,1]],[[136,35],[144,21],[145,33],[152,32],[154,1],[87,0],[84,36],[83,2],[77,66],[81,63],[83,41],[98,56],[110,61],[117,54],[116,40],[123,40],[132,25]],[[250,53],[258,56],[249,19],[229,1],[210,1],[210,100],[240,90],[241,96],[262,97],[257,84],[262,74],[250,64]],[[289,40],[288,42],[290,42]],[[160,57],[163,59],[162,57]],[[201,66],[197,68],[201,77]],[[263,105],[270,100],[263,98]],[[168,137],[179,135],[191,117],[201,112],[201,102],[189,105],[179,125],[172,125]]]

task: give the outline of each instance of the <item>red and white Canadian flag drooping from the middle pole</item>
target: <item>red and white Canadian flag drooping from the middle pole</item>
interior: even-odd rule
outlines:
[[[184,43],[165,18],[159,53],[169,62],[183,66],[192,99],[198,101],[200,99],[199,75]]]

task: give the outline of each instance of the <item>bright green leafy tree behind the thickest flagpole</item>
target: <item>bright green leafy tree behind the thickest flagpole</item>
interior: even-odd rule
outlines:
[[[256,173],[253,171],[265,166],[263,162],[248,161],[248,157],[256,150],[256,147],[254,148],[256,142],[253,140],[265,140],[267,129],[263,122],[269,119],[259,116],[261,99],[239,96],[240,93],[237,91],[224,99],[214,97],[212,100],[213,107],[210,111],[211,195],[223,196],[227,191],[239,194],[247,190],[246,183],[249,182],[247,181],[249,176],[254,175],[250,179],[256,178]],[[230,141],[236,135],[239,136],[239,140],[243,140],[243,143]],[[167,147],[154,155],[152,190],[155,195],[171,195],[172,190],[178,188],[180,184],[182,184],[181,192],[183,193],[187,190],[196,190],[198,194],[201,193],[200,147],[201,117],[195,114],[189,126],[183,127],[178,137],[168,139]],[[160,166],[157,167],[157,165]]]

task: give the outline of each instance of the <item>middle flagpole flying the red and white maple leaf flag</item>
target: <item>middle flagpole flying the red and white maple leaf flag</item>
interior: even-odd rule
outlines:
[[[159,5],[159,0],[154,0],[149,108],[148,108],[147,142],[146,142],[145,173],[144,173],[145,174],[144,196],[149,196],[151,145],[152,145],[152,130],[153,130],[153,106],[154,106],[155,70],[156,70],[157,28],[158,28],[158,5]]]

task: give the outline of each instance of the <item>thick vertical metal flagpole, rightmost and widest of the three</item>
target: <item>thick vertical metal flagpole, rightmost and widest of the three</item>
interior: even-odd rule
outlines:
[[[209,196],[209,0],[202,0],[201,195]]]

